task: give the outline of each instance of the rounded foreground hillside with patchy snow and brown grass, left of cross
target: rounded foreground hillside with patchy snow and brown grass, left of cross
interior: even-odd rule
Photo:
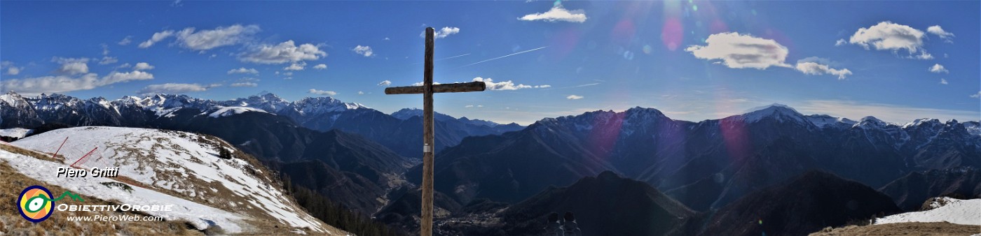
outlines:
[[[254,166],[257,163],[243,160],[244,157],[221,159],[220,149],[230,152],[234,149],[214,137],[146,128],[90,126],[56,129],[14,145],[53,153],[65,137],[69,140],[59,155],[67,160],[58,165],[70,165],[97,148],[78,165],[118,166],[121,176],[164,194],[246,214],[246,217],[273,219],[318,232],[326,230],[323,222],[304,212],[281,189],[274,187],[279,184],[270,179],[270,173],[264,172],[268,170]],[[51,169],[44,168],[48,174]]]

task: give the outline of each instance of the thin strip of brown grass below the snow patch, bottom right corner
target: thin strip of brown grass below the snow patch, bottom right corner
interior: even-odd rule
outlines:
[[[847,235],[981,235],[981,226],[948,222],[904,222],[825,228],[810,236]]]

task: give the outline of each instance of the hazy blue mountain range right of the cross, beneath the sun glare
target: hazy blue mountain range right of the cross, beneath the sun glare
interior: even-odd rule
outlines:
[[[514,203],[613,170],[705,211],[808,169],[878,188],[910,171],[981,166],[977,129],[978,121],[805,116],[783,105],[698,122],[645,108],[596,111],[465,139],[438,154],[436,187],[462,205]],[[421,167],[409,171],[418,183]]]

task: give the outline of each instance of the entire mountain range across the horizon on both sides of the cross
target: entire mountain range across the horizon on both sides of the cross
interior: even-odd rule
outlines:
[[[422,176],[411,159],[421,153],[420,114],[403,109],[387,115],[327,97],[288,102],[268,93],[229,101],[0,95],[0,128],[37,128],[35,135],[44,135],[62,127],[57,124],[107,125],[214,135],[296,185],[398,222],[415,214],[410,207],[416,205],[405,203],[416,196],[408,183]],[[978,121],[852,120],[802,115],[779,104],[697,122],[647,108],[542,118],[527,127],[442,114],[436,120],[437,204],[447,211],[517,204],[604,171],[649,184],[694,212],[723,210],[814,169],[881,188],[903,207],[951,191],[904,193],[943,185],[976,194],[968,188],[981,182],[970,171],[917,177],[981,167]]]

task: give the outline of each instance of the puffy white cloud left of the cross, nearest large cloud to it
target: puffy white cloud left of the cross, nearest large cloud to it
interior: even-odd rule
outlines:
[[[284,64],[322,57],[327,57],[327,53],[321,51],[320,46],[304,43],[297,47],[293,40],[288,40],[277,45],[259,45],[250,52],[239,55],[238,60],[258,64]]]

